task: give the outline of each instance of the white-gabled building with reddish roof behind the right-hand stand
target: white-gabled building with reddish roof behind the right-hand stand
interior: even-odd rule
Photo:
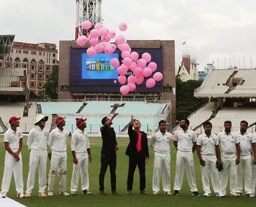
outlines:
[[[190,54],[183,54],[182,63],[176,75],[179,75],[180,80],[198,80],[196,57]]]

